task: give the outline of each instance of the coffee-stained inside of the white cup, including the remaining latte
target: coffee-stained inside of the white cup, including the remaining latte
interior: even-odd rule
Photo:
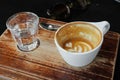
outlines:
[[[64,40],[60,41],[63,35]],[[71,52],[92,50],[99,45],[101,38],[102,33],[98,28],[84,22],[69,24],[57,34],[58,43],[61,47]]]

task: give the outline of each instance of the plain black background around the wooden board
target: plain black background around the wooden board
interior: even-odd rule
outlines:
[[[46,11],[53,4],[65,0],[1,0],[0,1],[0,35],[6,29],[6,20],[17,12],[30,11],[39,17],[48,18]],[[120,3],[115,0],[91,0],[91,5],[85,11],[76,10],[62,21],[90,21],[107,20],[111,31],[120,33]],[[112,45],[111,45],[112,46]],[[116,61],[114,80],[120,80],[120,47]],[[96,79],[97,80],[97,79]]]

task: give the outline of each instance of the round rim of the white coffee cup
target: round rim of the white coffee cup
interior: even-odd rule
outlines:
[[[57,35],[57,33],[58,33],[63,27],[65,27],[66,25],[69,25],[69,24],[73,24],[73,23],[87,23],[87,24],[90,24],[90,25],[95,26],[95,27],[100,31],[100,33],[101,33],[101,41],[100,41],[100,43],[99,43],[94,49],[89,50],[89,51],[87,51],[87,52],[70,52],[70,51],[67,51],[67,50],[63,49],[63,48],[58,44],[56,35]],[[96,49],[98,49],[98,48],[101,47],[101,45],[102,45],[102,43],[103,43],[103,33],[102,33],[102,31],[101,31],[96,25],[94,25],[94,24],[92,24],[92,23],[90,23],[90,22],[86,22],[86,21],[73,21],[73,22],[66,23],[66,24],[62,25],[60,28],[58,28],[58,30],[55,32],[54,42],[55,42],[56,46],[57,46],[58,48],[60,48],[61,50],[63,50],[64,52],[69,52],[70,54],[73,54],[73,55],[79,55],[79,54],[85,55],[85,54],[89,54],[89,53],[91,53],[91,52],[93,52],[93,51],[95,51]]]

